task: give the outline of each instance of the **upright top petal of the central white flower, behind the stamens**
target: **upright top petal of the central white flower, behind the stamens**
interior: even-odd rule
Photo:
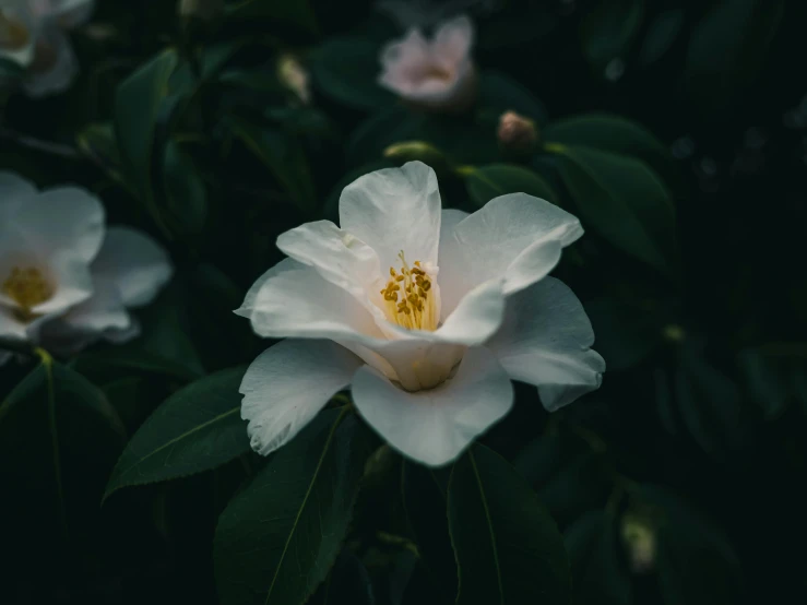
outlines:
[[[440,238],[440,191],[435,171],[422,162],[365,175],[342,191],[343,229],[378,253],[381,271],[410,263],[437,264]]]

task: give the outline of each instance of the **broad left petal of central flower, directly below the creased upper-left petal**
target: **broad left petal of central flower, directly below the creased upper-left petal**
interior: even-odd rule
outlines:
[[[382,337],[372,316],[353,296],[293,259],[264,273],[236,312],[249,318],[261,336]]]

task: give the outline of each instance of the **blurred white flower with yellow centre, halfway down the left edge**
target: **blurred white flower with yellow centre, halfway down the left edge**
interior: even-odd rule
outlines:
[[[139,328],[127,309],[151,302],[170,275],[152,238],[105,228],[90,192],[39,192],[0,173],[0,337],[57,353],[130,340]],[[0,363],[7,358],[0,353]]]

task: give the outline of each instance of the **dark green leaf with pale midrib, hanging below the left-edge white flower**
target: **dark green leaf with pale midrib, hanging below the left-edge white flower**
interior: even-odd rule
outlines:
[[[97,515],[126,429],[94,384],[46,353],[40,357],[0,404],[0,475],[8,481],[4,497],[34,490],[43,500],[36,509],[52,511],[37,523],[68,537]]]

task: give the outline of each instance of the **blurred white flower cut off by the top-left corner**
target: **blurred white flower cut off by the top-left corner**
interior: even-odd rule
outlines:
[[[66,29],[90,19],[94,0],[0,0],[0,58],[27,69],[25,91],[64,91],[79,72]]]

